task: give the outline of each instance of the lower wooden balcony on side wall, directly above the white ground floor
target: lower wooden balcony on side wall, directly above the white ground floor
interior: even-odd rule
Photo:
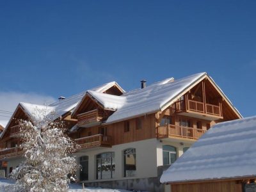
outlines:
[[[111,147],[111,136],[104,136],[102,134],[79,138],[75,141],[81,148]]]

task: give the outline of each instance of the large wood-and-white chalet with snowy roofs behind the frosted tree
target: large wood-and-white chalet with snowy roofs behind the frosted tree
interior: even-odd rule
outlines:
[[[42,107],[42,106],[41,106]],[[163,191],[163,166],[170,166],[212,125],[242,118],[206,73],[168,78],[125,92],[111,82],[48,106],[70,128],[86,186]],[[20,103],[1,135],[0,159],[10,173],[22,158],[19,125],[33,119],[36,105]]]

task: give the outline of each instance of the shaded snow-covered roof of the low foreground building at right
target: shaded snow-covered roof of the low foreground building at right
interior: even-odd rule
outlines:
[[[161,176],[161,182],[256,177],[256,116],[214,125]]]

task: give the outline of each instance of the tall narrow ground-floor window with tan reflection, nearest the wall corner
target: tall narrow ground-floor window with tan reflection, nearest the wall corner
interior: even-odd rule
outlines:
[[[124,150],[124,177],[136,176],[136,149]]]

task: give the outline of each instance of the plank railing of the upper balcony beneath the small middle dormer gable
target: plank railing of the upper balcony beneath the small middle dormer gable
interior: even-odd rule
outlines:
[[[98,109],[88,111],[86,113],[81,113],[77,115],[77,124],[86,124],[90,122],[99,122],[102,120],[103,114],[99,112]]]

